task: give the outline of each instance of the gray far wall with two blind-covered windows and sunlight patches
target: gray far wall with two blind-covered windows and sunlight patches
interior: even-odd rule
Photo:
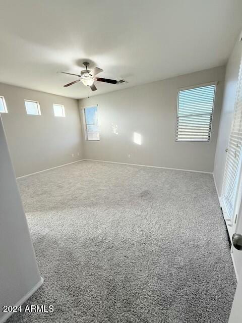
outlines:
[[[224,73],[225,67],[217,67],[79,100],[80,110],[98,104],[100,123],[100,141],[84,141],[85,158],[212,172]],[[211,81],[219,82],[211,141],[175,142],[177,88]],[[134,143],[134,132],[141,134],[141,145]]]

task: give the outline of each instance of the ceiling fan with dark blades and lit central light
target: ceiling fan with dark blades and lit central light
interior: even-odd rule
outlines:
[[[78,75],[78,74],[72,74],[72,73],[67,73],[67,72],[57,72],[57,73],[64,73],[64,74],[69,74],[69,75],[75,75],[75,76],[78,76],[79,77],[78,80],[73,81],[71,83],[68,83],[68,84],[64,85],[65,87],[66,86],[73,85],[73,84],[78,83],[78,82],[82,82],[84,85],[89,86],[92,91],[96,91],[97,88],[96,88],[96,86],[94,84],[94,81],[111,83],[111,84],[118,83],[118,81],[116,81],[116,80],[110,80],[110,79],[104,79],[104,78],[101,78],[101,77],[96,77],[96,75],[98,73],[103,72],[103,70],[102,69],[99,69],[99,67],[94,67],[90,71],[90,70],[88,70],[88,67],[89,67],[89,63],[88,62],[84,62],[83,65],[85,67],[85,70],[82,70],[81,73],[80,73],[80,75]]]

